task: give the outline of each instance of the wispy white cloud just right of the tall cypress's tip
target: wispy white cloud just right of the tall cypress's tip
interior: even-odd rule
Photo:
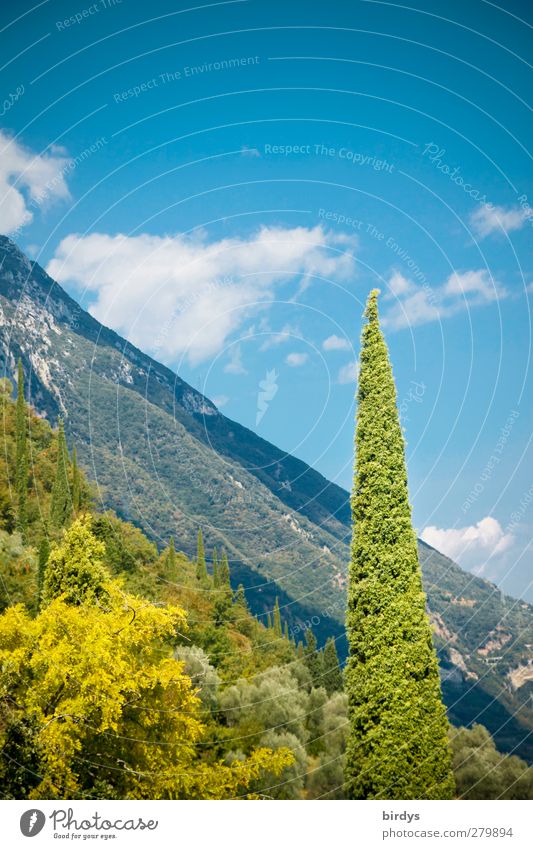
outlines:
[[[420,286],[394,272],[390,281],[391,294],[396,298],[383,317],[384,326],[393,330],[416,327],[432,321],[442,321],[476,306],[502,300],[507,290],[495,281],[486,269],[453,272],[442,286]]]

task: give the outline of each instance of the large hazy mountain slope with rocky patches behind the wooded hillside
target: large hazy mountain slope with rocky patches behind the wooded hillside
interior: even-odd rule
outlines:
[[[297,639],[344,640],[349,495],[101,325],[0,237],[0,366],[18,357],[28,398],[55,423],[102,506],[159,545],[224,546],[256,613],[279,597]],[[503,596],[420,542],[449,715],[482,722],[500,749],[533,761],[533,607]]]

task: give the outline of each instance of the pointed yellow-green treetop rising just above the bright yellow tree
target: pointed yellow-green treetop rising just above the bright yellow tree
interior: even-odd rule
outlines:
[[[91,518],[75,519],[48,556],[42,604],[59,597],[74,605],[105,600],[109,574],[102,562],[104,554],[105,545],[91,531]]]

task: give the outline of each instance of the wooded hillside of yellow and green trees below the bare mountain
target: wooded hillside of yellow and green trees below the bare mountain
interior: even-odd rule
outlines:
[[[335,641],[259,621],[224,551],[161,551],[97,509],[67,446],[1,384],[4,798],[342,799],[348,698]],[[482,726],[449,728],[456,795],[533,798]]]

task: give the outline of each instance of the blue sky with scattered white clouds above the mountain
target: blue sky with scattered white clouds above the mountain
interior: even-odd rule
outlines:
[[[378,286],[415,524],[533,600],[531,12],[418,5],[4,4],[0,230],[347,488]]]

